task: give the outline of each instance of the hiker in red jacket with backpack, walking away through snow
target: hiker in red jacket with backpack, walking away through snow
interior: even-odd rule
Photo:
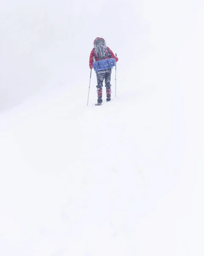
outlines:
[[[103,80],[105,79],[106,87],[106,101],[111,100],[111,72],[112,67],[115,66],[115,62],[118,58],[115,57],[114,53],[109,47],[106,47],[106,42],[103,38],[96,38],[94,41],[94,48],[91,51],[89,58],[89,67],[94,68],[97,76],[98,101],[96,105],[101,105],[102,100],[102,87]]]

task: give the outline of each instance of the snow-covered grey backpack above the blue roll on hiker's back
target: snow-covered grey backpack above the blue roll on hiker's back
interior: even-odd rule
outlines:
[[[105,59],[106,57],[111,58],[110,51],[106,47],[106,42],[103,38],[98,38],[95,40],[94,52],[95,57],[98,57],[100,60]]]

